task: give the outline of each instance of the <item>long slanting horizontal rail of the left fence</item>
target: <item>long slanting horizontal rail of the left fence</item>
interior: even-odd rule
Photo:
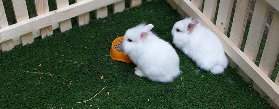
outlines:
[[[16,23],[8,27],[0,29],[0,43],[17,36],[38,30],[40,28],[52,25],[63,20],[75,17],[77,15],[96,10],[103,6],[114,4],[120,0],[110,0],[103,2],[103,0],[86,0],[81,1],[64,8],[60,8],[49,13],[33,17],[24,22]],[[38,25],[40,24],[40,25]]]

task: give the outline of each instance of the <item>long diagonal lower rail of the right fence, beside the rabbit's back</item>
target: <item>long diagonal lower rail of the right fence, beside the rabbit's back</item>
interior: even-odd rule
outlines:
[[[174,0],[189,16],[199,19],[201,24],[214,32],[220,39],[224,51],[245,71],[263,91],[279,105],[279,87],[267,77],[226,35],[219,30],[203,13],[189,0]]]

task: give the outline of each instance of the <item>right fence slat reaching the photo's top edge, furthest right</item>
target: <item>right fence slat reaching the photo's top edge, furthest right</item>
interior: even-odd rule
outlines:
[[[243,53],[248,56],[254,63],[257,58],[260,42],[263,37],[265,24],[268,18],[270,5],[264,0],[257,0],[254,8],[251,25],[249,28],[246,44]],[[250,77],[240,68],[238,74],[246,82],[250,81]]]

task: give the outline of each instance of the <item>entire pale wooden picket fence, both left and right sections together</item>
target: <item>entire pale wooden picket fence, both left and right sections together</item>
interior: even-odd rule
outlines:
[[[107,16],[107,5],[112,4],[113,13],[125,9],[124,0],[75,0],[69,5],[68,0],[56,0],[57,10],[49,12],[47,0],[34,0],[36,17],[29,18],[25,0],[11,0],[16,17],[16,24],[8,25],[4,6],[0,0],[0,45],[2,51],[8,51],[19,43],[13,40],[20,39],[26,45],[32,43],[34,38],[53,34],[59,27],[61,32],[72,28],[71,19],[78,16],[78,25],[89,23],[89,12],[95,10],[96,18]],[[213,31],[223,44],[224,51],[230,58],[230,66],[240,67],[239,75],[247,82],[253,79],[253,88],[260,96],[266,93],[270,105],[278,108],[279,105],[279,76],[275,82],[270,79],[279,52],[279,1],[256,0],[253,17],[244,52],[239,48],[243,39],[249,8],[252,0],[237,0],[231,27],[230,38],[227,34],[233,0],[220,0],[216,25],[212,23],[216,12],[217,0],[205,0],[204,11],[201,12],[203,0],[167,0],[177,8],[182,17],[187,15],[199,19],[204,27]],[[130,0],[130,6],[140,5],[142,0]],[[263,55],[259,67],[255,65],[256,56],[263,36],[270,6],[275,8],[270,30],[267,36]],[[20,37],[19,37],[20,36]]]

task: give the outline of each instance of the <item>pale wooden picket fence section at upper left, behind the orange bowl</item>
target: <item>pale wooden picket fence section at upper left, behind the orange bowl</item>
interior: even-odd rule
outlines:
[[[4,5],[0,0],[0,50],[9,51],[15,45],[32,43],[34,38],[53,34],[59,27],[61,32],[72,28],[71,19],[77,16],[78,25],[89,23],[89,12],[95,10],[96,18],[107,16],[107,6],[112,4],[113,13],[125,9],[124,0],[56,0],[57,10],[49,12],[48,0],[34,0],[36,17],[29,18],[25,0],[11,0],[16,24],[8,25]],[[130,0],[130,6],[138,6],[142,0]],[[6,10],[7,11],[7,10]],[[11,10],[8,10],[11,11]]]

